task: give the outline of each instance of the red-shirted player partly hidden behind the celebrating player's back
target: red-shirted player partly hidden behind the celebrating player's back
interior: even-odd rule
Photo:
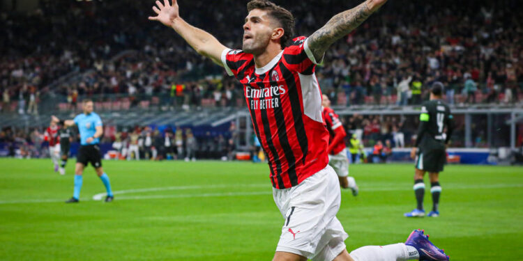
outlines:
[[[327,95],[322,95],[321,105],[323,106],[324,123],[328,130],[328,164],[334,168],[338,174],[340,186],[344,189],[351,189],[352,195],[358,196],[358,185],[354,177],[349,177],[349,158],[347,158],[347,148],[345,147],[345,136],[347,132],[340,121],[338,114],[331,108],[331,100]]]

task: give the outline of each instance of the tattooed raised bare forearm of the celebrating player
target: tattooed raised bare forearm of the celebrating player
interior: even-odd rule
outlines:
[[[367,0],[359,6],[332,17],[321,29],[308,39],[309,49],[316,61],[323,58],[325,51],[333,42],[356,29],[367,17],[378,10],[387,0]]]

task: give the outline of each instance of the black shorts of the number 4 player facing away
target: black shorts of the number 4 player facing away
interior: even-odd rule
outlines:
[[[416,157],[416,168],[430,173],[439,173],[443,171],[447,163],[447,154],[443,143],[429,146],[420,146],[418,157]]]

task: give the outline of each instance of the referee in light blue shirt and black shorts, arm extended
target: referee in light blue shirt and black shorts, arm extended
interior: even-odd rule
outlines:
[[[66,201],[66,203],[78,203],[80,198],[80,189],[82,189],[82,174],[84,168],[90,162],[96,170],[96,174],[102,180],[105,189],[107,191],[107,197],[105,202],[112,202],[114,200],[113,193],[111,191],[111,184],[109,177],[103,171],[102,168],[102,155],[100,153],[100,137],[103,134],[102,119],[98,114],[93,112],[93,101],[84,100],[83,102],[84,113],[78,114],[74,120],[61,121],[56,116],[52,116],[54,122],[61,122],[64,126],[78,126],[80,133],[80,148],[78,150],[78,156],[75,166],[75,189],[73,191],[73,197]]]

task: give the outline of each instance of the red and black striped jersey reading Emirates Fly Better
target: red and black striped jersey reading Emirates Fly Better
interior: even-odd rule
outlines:
[[[227,73],[243,84],[252,125],[268,156],[276,189],[300,184],[328,164],[328,132],[321,114],[316,61],[298,37],[263,68],[252,54],[225,49]]]

